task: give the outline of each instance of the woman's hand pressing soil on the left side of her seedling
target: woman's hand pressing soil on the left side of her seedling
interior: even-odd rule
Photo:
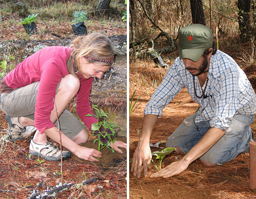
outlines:
[[[102,153],[100,151],[94,150],[93,148],[86,148],[79,146],[75,152],[75,155],[81,159],[88,161],[99,161],[94,157],[102,157]]]

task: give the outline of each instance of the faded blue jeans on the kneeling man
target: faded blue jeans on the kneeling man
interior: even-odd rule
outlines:
[[[186,118],[171,134],[166,147],[180,147],[185,154],[194,147],[201,137],[209,130],[209,121],[195,123],[197,113]],[[250,125],[254,122],[254,115],[234,115],[224,136],[208,152],[200,157],[201,160],[212,164],[224,164],[233,160],[238,154],[249,149],[249,143],[254,142],[254,135]]]

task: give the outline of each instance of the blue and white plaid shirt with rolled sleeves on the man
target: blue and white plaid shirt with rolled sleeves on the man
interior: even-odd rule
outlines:
[[[246,74],[224,52],[217,51],[210,57],[208,85],[205,91],[207,98],[197,98],[193,87],[193,76],[185,69],[179,57],[172,64],[155,90],[154,95],[144,109],[144,114],[163,115],[163,108],[174,99],[185,86],[188,93],[200,110],[195,122],[209,121],[211,127],[226,130],[235,114],[254,115],[256,112],[256,96]],[[199,80],[195,77],[197,96],[202,95]]]

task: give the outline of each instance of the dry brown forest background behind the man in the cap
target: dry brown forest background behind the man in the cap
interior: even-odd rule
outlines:
[[[220,48],[222,38],[223,40],[236,38],[236,41],[232,42],[234,47],[249,40],[253,43],[255,40],[254,0],[131,0],[129,9],[130,55],[133,59],[141,55],[135,48],[139,44],[158,53],[160,53],[159,48],[169,48],[164,52],[174,52],[177,32],[191,23],[201,23],[212,28],[215,39],[218,34]],[[238,36],[240,39],[237,39]],[[143,48],[138,47],[140,50]]]

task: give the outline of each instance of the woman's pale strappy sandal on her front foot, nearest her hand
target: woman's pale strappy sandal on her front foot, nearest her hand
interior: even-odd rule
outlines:
[[[30,141],[30,148],[31,155],[43,157],[43,159],[48,161],[61,160],[61,153],[59,148],[55,147],[52,143],[46,142],[46,144],[37,144],[32,138]],[[41,152],[43,149],[46,150]],[[62,151],[63,160],[68,159],[70,156],[71,152]]]

